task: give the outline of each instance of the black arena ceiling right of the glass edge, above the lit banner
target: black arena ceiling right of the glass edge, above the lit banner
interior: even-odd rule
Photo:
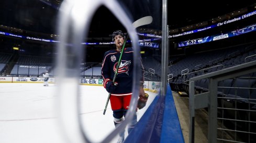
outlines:
[[[168,3],[168,25],[176,29],[208,21],[233,11],[256,4],[255,1],[175,1]]]

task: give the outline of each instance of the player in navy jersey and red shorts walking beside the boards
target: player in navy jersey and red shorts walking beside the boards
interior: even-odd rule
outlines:
[[[116,72],[116,66],[120,57],[121,49],[125,42],[125,35],[122,31],[117,30],[112,34],[112,40],[115,43],[116,49],[109,50],[105,53],[102,62],[102,76],[104,88],[106,88],[110,95],[110,105],[113,110],[114,124],[117,127],[124,121],[125,114],[130,105],[132,95],[132,70],[133,70],[133,50],[132,48],[125,48],[123,56],[121,57],[118,74],[116,75],[115,83],[113,78]],[[143,68],[143,67],[142,67]],[[143,78],[141,79],[140,98],[138,100],[138,108],[141,109],[146,105],[148,94],[144,93]],[[137,123],[137,115],[131,124],[128,125],[128,133]],[[124,132],[119,133],[119,142],[124,141]]]

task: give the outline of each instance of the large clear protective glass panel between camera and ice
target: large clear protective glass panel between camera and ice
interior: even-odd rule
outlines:
[[[15,90],[15,98],[5,94],[1,109],[18,103],[0,116],[1,125],[8,122],[3,128],[13,126],[10,122],[16,125],[15,132],[6,129],[1,140],[117,142],[123,130],[127,138],[160,92],[162,1],[10,0],[2,6],[0,34],[4,35],[4,48],[0,53],[4,54],[0,56],[6,60],[0,62],[1,75],[17,86],[6,86]],[[123,59],[116,69],[116,80],[123,86],[118,88],[130,88],[132,96],[111,95],[117,98],[108,100],[102,67],[104,54],[116,49],[112,38],[116,30],[124,33],[125,40],[127,37],[121,43],[126,49],[120,56]],[[131,63],[126,60],[129,55]],[[119,59],[115,61],[118,64]],[[121,74],[131,76],[129,84],[122,85],[129,79],[120,80]],[[138,103],[141,81],[149,97]],[[122,107],[127,110],[121,109],[126,111],[127,116],[121,115],[124,121],[120,118],[124,112],[118,112],[119,106],[111,103],[119,99],[128,104]]]

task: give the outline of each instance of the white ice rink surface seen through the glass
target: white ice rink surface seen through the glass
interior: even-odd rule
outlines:
[[[154,97],[149,94],[146,107],[138,110],[138,120]],[[0,142],[64,143],[57,119],[57,86],[41,83],[0,83]],[[108,93],[103,86],[80,85],[82,126],[92,142],[101,142],[115,129],[110,102],[103,110]],[[127,132],[126,132],[127,136]]]

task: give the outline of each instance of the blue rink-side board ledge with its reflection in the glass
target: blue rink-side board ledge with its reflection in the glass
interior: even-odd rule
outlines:
[[[184,142],[170,86],[165,96],[154,98],[124,142]]]

